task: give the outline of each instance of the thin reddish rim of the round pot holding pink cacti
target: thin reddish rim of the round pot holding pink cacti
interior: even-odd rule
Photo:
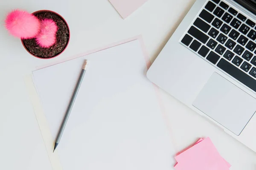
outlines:
[[[50,10],[39,10],[39,11],[33,12],[32,14],[39,14],[39,13],[44,13],[44,12],[51,12],[51,13],[53,13],[53,14],[58,15],[58,16],[61,18],[61,20],[63,20],[64,23],[67,25],[68,32],[69,32],[69,38],[68,38],[68,41],[67,41],[67,45],[68,45],[68,43],[69,43],[69,41],[70,41],[70,28],[69,28],[69,26],[68,26],[68,24],[67,24],[67,21],[66,21],[63,17],[61,17],[60,14],[58,14],[58,13],[56,13],[56,12],[54,12],[54,11],[50,11]],[[36,58],[40,58],[40,59],[52,59],[52,58],[55,58],[55,57],[59,56],[61,53],[63,53],[63,51],[65,51],[65,49],[67,48],[67,45],[66,45],[65,48],[61,51],[61,53],[59,53],[59,54],[57,54],[57,55],[55,55],[55,56],[53,56],[53,57],[44,58],[44,57],[37,57],[37,56],[35,56],[34,54],[32,54],[32,53],[26,48],[26,45],[24,44],[24,42],[23,42],[22,39],[21,39],[21,43],[22,43],[23,47],[26,49],[26,51],[29,52],[29,54],[31,54],[32,56],[34,56],[34,57],[36,57]]]

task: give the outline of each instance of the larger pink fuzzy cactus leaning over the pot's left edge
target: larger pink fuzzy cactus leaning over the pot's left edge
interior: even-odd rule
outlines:
[[[40,21],[27,11],[16,9],[7,15],[5,26],[13,36],[21,39],[29,39],[38,34]]]

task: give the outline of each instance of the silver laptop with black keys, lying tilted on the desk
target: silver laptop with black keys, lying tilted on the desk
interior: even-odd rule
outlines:
[[[256,151],[256,1],[196,0],[147,77]]]

